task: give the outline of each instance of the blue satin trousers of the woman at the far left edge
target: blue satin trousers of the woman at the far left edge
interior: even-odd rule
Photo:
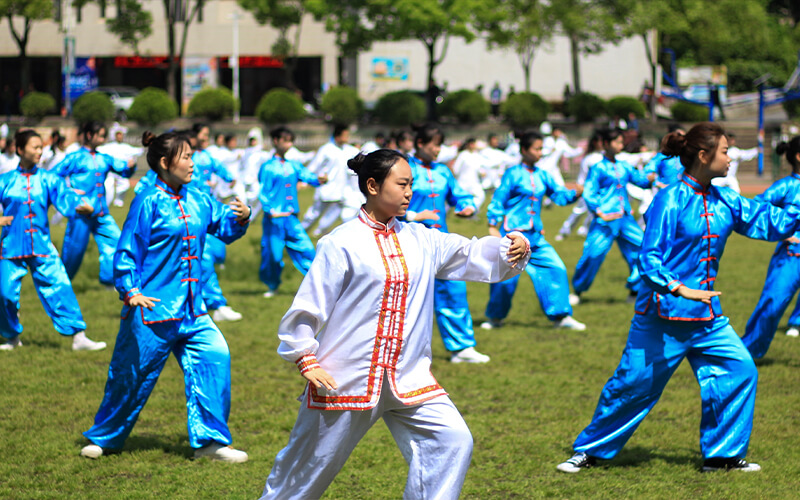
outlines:
[[[44,311],[53,320],[53,327],[61,335],[75,335],[86,330],[78,299],[67,278],[64,264],[58,255],[0,259],[0,335],[14,338],[22,333],[19,323],[19,293],[22,278],[31,270],[33,286],[39,295]]]

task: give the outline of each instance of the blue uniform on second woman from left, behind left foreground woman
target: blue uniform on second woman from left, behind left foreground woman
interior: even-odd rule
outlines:
[[[123,160],[99,152],[92,153],[86,147],[68,154],[55,166],[55,172],[61,177],[69,177],[72,189],[83,191],[94,206],[91,215],[74,215],[67,222],[61,260],[70,280],[81,267],[89,235],[92,234],[100,253],[100,283],[108,286],[113,284],[112,266],[119,240],[119,226],[108,211],[105,181],[109,172],[128,178],[135,171],[135,166],[129,168]]]

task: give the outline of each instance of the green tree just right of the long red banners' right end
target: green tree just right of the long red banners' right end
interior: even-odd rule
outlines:
[[[297,65],[297,48],[300,45],[300,30],[305,14],[303,0],[238,0],[239,5],[253,14],[258,24],[269,24],[279,32],[272,44],[272,54],[284,59],[286,79],[294,85],[294,70]],[[294,42],[289,41],[289,30],[295,27]]]

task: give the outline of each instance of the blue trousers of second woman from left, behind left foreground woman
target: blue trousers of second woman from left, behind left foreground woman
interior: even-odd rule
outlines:
[[[72,280],[78,274],[90,234],[94,235],[94,242],[100,253],[100,283],[112,286],[114,252],[117,251],[120,231],[114,218],[109,214],[99,217],[76,215],[69,219],[61,248],[61,261],[67,270],[67,276]]]

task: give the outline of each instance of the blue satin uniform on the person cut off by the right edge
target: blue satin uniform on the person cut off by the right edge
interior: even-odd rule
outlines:
[[[756,199],[800,212],[800,175],[792,174],[780,179]],[[793,236],[800,238],[800,232]],[[781,316],[799,288],[800,244],[782,241],[778,243],[769,262],[764,290],[742,337],[742,342],[754,358],[761,358],[767,353]],[[795,316],[797,309],[789,318],[792,326],[799,324]]]

